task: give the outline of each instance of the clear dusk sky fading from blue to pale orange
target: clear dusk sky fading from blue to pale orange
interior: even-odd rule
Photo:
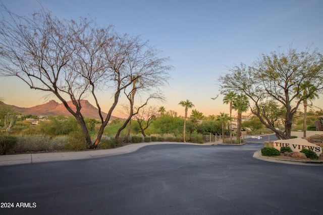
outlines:
[[[303,51],[307,46],[323,51],[323,1],[321,0],[2,0],[18,15],[30,16],[42,7],[60,19],[91,17],[100,27],[115,26],[118,33],[141,35],[151,46],[170,57],[172,79],[163,88],[164,106],[178,115],[178,103],[189,99],[205,116],[229,113],[219,95],[220,76],[228,67],[251,65],[261,53],[287,50]],[[17,78],[0,78],[0,97],[6,104],[32,107],[48,102],[43,92],[29,89]],[[112,104],[110,94],[100,92],[102,110]],[[107,98],[107,99],[106,99]],[[323,99],[314,105],[323,108]],[[56,100],[55,97],[49,100]],[[89,100],[92,104],[91,100]],[[120,104],[126,101],[121,100]],[[190,114],[190,113],[189,113]],[[234,113],[233,113],[234,114]],[[121,115],[121,107],[113,112]]]

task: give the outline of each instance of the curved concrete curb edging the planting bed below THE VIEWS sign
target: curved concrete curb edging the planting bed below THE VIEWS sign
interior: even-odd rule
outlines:
[[[254,152],[252,157],[255,158],[255,159],[258,159],[258,160],[262,160],[262,161],[281,163],[281,164],[306,165],[306,166],[323,166],[322,161],[295,161],[295,160],[285,160],[285,159],[265,157],[265,156],[261,155],[260,150]]]

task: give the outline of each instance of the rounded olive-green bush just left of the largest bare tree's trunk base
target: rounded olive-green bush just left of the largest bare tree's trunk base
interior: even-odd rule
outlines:
[[[88,146],[86,145],[86,139],[82,132],[73,131],[67,137],[67,142],[64,149],[69,151],[81,151],[86,150]]]

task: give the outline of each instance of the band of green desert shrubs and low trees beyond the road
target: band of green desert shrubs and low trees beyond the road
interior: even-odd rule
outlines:
[[[45,118],[39,118],[33,115],[22,116],[9,105],[6,105],[3,99],[1,100],[1,154],[89,150],[82,129],[75,117],[63,115],[48,116]],[[153,110],[153,114],[151,114],[151,110]],[[10,131],[5,126],[5,118],[9,116],[8,112],[11,113],[10,116],[13,117],[13,120],[16,120]],[[145,113],[148,114],[148,117]],[[322,114],[321,111],[310,110],[307,112],[308,130],[312,128],[313,121]],[[37,123],[34,123],[35,121]],[[89,134],[95,137],[100,130],[100,120],[85,118],[84,121]],[[237,138],[237,131],[230,129],[232,126],[230,122],[233,121],[236,122],[236,118],[229,117],[228,114],[222,113],[217,116],[210,115],[206,117],[203,113],[193,109],[191,114],[186,118],[185,141],[202,144],[203,142],[210,141],[210,135],[221,135],[221,142],[223,144],[239,144],[240,141]],[[185,117],[179,116],[173,110],[166,110],[163,106],[159,108],[143,108],[136,117],[131,119],[129,140],[127,139],[129,127],[124,126],[125,119],[116,118],[110,121],[104,128],[97,149],[112,149],[138,142],[183,142],[184,122]],[[279,121],[276,123],[279,127]],[[283,127],[282,124],[280,126]],[[294,117],[293,130],[298,130],[302,126],[303,115],[302,112],[298,112]],[[124,127],[124,129],[120,129],[121,127]],[[244,119],[241,127],[242,130],[250,135],[272,133],[255,116],[250,116],[247,120]],[[145,128],[144,132],[142,131],[143,128]],[[232,136],[230,137],[230,130],[234,138]],[[118,138],[116,138],[117,133],[119,133]]]

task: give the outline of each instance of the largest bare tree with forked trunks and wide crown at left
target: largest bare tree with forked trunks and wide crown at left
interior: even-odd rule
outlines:
[[[167,83],[172,66],[164,63],[169,58],[158,57],[139,36],[118,35],[111,26],[99,28],[84,18],[59,20],[44,9],[28,18],[2,8],[9,18],[0,22],[0,76],[17,77],[31,89],[55,95],[77,119],[89,146],[81,100],[91,95],[101,120],[92,148],[99,144],[121,92],[135,80],[131,77],[142,77],[145,84],[158,80],[157,87]],[[99,90],[114,97],[105,118],[95,95]]]

